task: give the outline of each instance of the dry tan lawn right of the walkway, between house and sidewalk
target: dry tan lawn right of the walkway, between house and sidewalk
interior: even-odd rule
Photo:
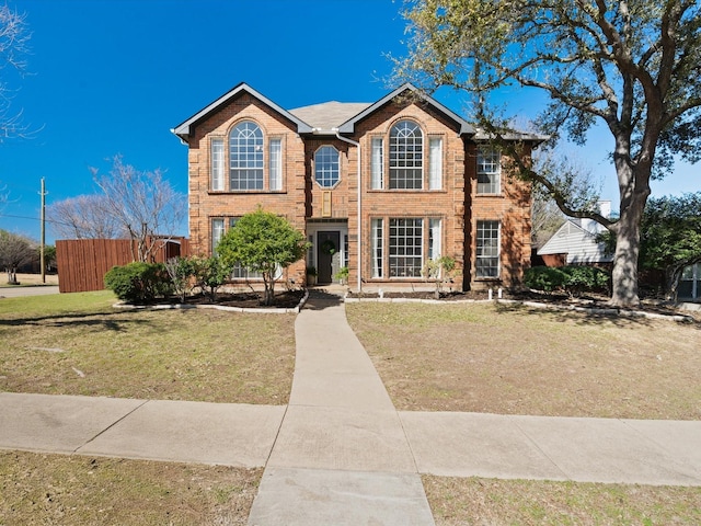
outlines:
[[[492,304],[348,304],[399,410],[701,420],[701,324]]]

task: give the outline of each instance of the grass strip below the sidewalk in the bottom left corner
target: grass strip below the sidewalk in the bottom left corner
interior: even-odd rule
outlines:
[[[263,469],[0,451],[0,525],[245,524]]]

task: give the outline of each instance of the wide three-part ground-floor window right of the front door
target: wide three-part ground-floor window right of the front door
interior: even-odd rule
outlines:
[[[439,258],[439,251],[440,219],[391,217],[370,221],[372,277],[422,277],[426,255]]]

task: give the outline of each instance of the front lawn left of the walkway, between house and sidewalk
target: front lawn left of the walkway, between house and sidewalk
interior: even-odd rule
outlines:
[[[294,315],[124,310],[111,293],[0,301],[0,389],[285,404]]]

